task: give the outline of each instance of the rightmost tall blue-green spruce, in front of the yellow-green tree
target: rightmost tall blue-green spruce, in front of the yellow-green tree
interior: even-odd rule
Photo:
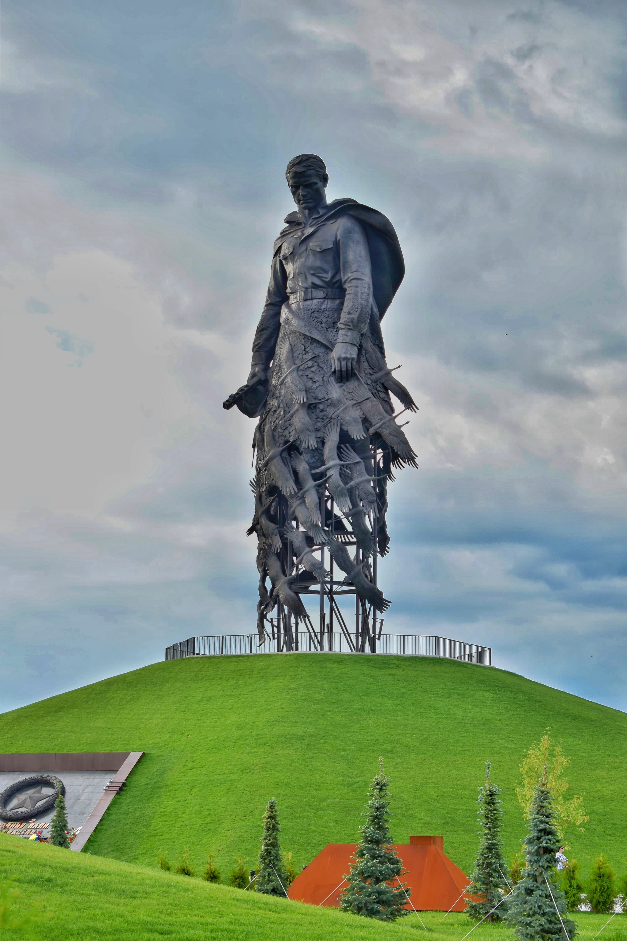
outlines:
[[[572,941],[577,926],[568,917],[566,900],[557,884],[555,865],[559,837],[546,774],[542,774],[536,785],[527,830],[526,865],[521,881],[509,896],[505,920],[519,941],[566,941],[564,930]]]

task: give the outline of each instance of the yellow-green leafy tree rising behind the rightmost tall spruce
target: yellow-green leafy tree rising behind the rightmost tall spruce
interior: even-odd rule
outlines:
[[[534,742],[527,752],[521,765],[521,783],[516,788],[516,795],[523,808],[525,818],[527,818],[531,810],[534,791],[538,781],[544,774],[543,769],[546,768],[544,780],[553,798],[556,831],[559,838],[564,839],[566,828],[570,823],[574,823],[583,833],[584,828],[581,824],[586,823],[589,817],[584,811],[583,797],[574,795],[570,800],[567,800],[564,796],[571,785],[561,775],[564,769],[570,765],[571,759],[564,755],[561,745],[552,742],[549,731],[550,729],[547,729],[544,733],[540,744]],[[566,843],[564,843],[564,847],[567,850],[571,849]]]

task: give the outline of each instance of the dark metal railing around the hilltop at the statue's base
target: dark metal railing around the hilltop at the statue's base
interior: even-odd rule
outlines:
[[[268,637],[259,646],[257,634],[210,634],[189,637],[179,644],[165,647],[165,660],[182,657],[219,657],[251,653],[383,653],[401,657],[446,657],[466,663],[492,666],[492,647],[466,644],[448,637],[423,634],[382,634],[380,637],[352,634],[311,632],[281,634]]]

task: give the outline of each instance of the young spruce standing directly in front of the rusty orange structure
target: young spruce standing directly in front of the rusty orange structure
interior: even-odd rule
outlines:
[[[405,895],[406,886],[400,883],[402,863],[391,846],[388,787],[384,759],[379,758],[379,774],[370,785],[370,800],[362,814],[366,817],[361,827],[362,839],[355,850],[351,871],[344,876],[349,885],[339,903],[345,912],[380,921],[395,921],[409,914],[402,907],[409,895],[409,890]]]

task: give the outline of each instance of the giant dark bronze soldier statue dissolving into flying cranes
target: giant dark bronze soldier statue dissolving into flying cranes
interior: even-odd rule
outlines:
[[[335,612],[344,625],[334,563],[373,630],[389,604],[376,586],[376,555],[389,544],[387,482],[393,468],[416,466],[390,392],[403,411],[415,402],[387,367],[381,333],[405,270],[397,234],[354,199],[327,203],[320,157],[294,157],[286,176],[298,211],[274,242],[250,375],[224,404],[259,417],[248,533],[259,540],[260,644],[270,624],[274,633],[275,607],[288,644],[299,622],[312,627],[300,596],[318,582],[321,611],[330,598],[331,623]]]

